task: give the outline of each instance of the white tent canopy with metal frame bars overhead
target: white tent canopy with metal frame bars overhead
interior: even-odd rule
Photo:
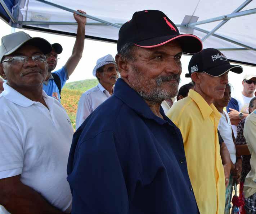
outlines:
[[[3,5],[8,0],[0,1]],[[77,26],[71,11],[77,9],[86,11],[88,18],[103,22],[87,19],[87,38],[116,42],[119,27],[130,20],[135,11],[157,9],[179,26],[180,33],[192,33],[203,39],[204,48],[220,49],[230,61],[256,66],[256,1],[253,0],[15,0],[9,15],[13,21],[9,24],[15,28],[75,36]],[[113,23],[116,27],[104,23]]]

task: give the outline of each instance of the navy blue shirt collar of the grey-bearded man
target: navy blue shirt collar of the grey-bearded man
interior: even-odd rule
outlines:
[[[152,110],[149,108],[145,100],[134,91],[129,85],[126,84],[121,78],[116,81],[114,87],[114,96],[122,100],[126,105],[131,109],[136,111],[138,114],[142,115],[144,118],[153,119],[159,124],[164,124],[169,122],[172,126],[175,126],[171,120],[165,115],[162,107],[160,106],[160,113],[163,116],[163,119],[156,116]]]

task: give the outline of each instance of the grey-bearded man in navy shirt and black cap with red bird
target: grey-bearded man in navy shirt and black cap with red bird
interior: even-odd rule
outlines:
[[[73,137],[72,213],[199,213],[180,130],[160,105],[178,92],[182,52],[201,49],[198,37],[180,35],[158,10],[136,12],[122,25],[121,79]]]

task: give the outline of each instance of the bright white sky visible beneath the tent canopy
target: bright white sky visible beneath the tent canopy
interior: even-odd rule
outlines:
[[[11,28],[8,24],[6,24],[1,19],[0,19],[0,29],[1,29],[0,37],[10,34],[14,31],[18,32],[21,30],[21,29]],[[59,69],[63,65],[65,65],[69,56],[71,56],[73,45],[75,43],[75,37],[42,33],[42,32],[36,32],[32,30],[23,30],[23,31],[28,33],[31,37],[42,37],[48,40],[51,44],[58,42],[62,45],[63,52],[58,55],[60,59],[58,60],[56,69]],[[69,80],[67,80],[67,82],[95,78],[92,72],[98,58],[103,57],[107,54],[111,54],[114,57],[116,53],[117,53],[116,43],[100,42],[100,41],[85,39],[85,47],[84,47],[82,59],[80,60],[78,66],[76,67],[73,74],[69,77]],[[226,54],[226,57],[228,57],[227,54]],[[185,77],[185,73],[188,72],[188,63],[190,61],[190,58],[191,58],[190,56],[186,56],[186,55],[183,55],[181,57],[183,71],[181,73],[181,83],[179,87],[191,81],[190,78]],[[235,94],[241,92],[243,89],[242,87],[243,76],[247,73],[256,72],[256,67],[245,66],[245,65],[242,65],[242,67],[244,70],[242,74],[229,72],[229,82],[230,84],[233,85],[234,87],[233,93]]]

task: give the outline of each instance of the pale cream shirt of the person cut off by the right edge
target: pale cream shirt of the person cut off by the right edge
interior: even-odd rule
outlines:
[[[250,159],[251,171],[247,174],[243,186],[244,197],[248,198],[256,193],[256,110],[247,116],[243,135],[252,155]]]

